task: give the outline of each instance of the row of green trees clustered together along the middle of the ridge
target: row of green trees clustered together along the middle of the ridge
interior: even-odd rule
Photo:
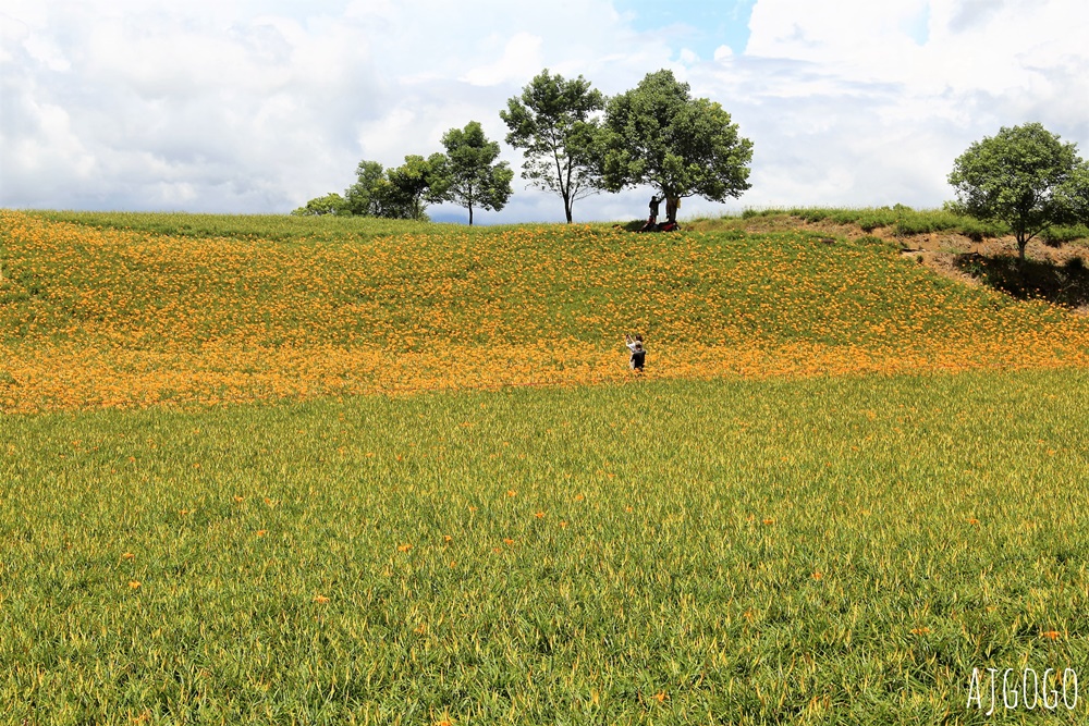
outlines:
[[[510,130],[506,143],[525,156],[523,179],[560,197],[567,222],[575,201],[639,185],[654,187],[675,220],[683,198],[725,201],[750,186],[752,143],[719,103],[689,91],[662,70],[607,98],[583,76],[567,79],[544,69],[499,115]],[[343,195],[311,199],[292,213],[426,220],[428,204],[452,201],[468,210],[473,224],[474,209],[502,209],[514,172],[495,161],[499,144],[480,123],[451,128],[442,145],[445,153],[407,156],[393,169],[360,161],[356,183]]]

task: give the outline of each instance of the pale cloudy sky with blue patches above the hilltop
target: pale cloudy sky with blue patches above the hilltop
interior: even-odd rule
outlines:
[[[0,207],[287,212],[470,120],[502,140],[500,109],[543,67],[607,95],[666,67],[732,114],[752,188],[682,218],[937,207],[957,155],[1002,126],[1042,122],[1089,156],[1087,37],[1085,0],[0,0]],[[516,177],[477,219],[563,205]]]

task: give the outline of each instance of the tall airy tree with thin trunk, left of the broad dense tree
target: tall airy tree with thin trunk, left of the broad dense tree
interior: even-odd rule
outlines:
[[[511,130],[506,143],[525,149],[522,177],[559,195],[568,223],[575,200],[601,188],[595,147],[600,123],[592,114],[603,108],[604,97],[589,81],[565,81],[544,69],[499,112]]]

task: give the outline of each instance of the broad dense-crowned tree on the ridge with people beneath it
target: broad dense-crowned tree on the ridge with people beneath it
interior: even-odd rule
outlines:
[[[647,74],[605,108],[605,188],[653,186],[665,197],[670,221],[676,221],[682,198],[725,201],[751,186],[752,143],[738,135],[719,103],[694,99],[688,91],[688,84],[662,70]]]

